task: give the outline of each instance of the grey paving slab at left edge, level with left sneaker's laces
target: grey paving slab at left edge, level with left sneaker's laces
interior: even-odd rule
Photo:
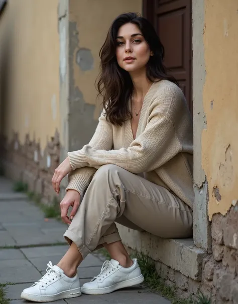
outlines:
[[[33,266],[2,267],[0,271],[0,283],[24,283],[39,280],[41,273]]]

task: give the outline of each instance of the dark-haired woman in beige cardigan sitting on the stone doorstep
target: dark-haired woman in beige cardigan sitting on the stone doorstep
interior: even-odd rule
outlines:
[[[115,222],[160,237],[192,235],[192,121],[163,57],[146,19],[129,13],[113,21],[100,51],[104,109],[95,134],[81,150],[68,153],[52,179],[59,193],[70,173],[60,204],[62,219],[70,224],[64,234],[70,247],[57,265],[49,262],[47,273],[24,289],[22,298],[53,301],[143,282]],[[100,246],[111,261],[80,288],[77,267]]]

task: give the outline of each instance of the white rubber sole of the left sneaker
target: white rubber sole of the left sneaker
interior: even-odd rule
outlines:
[[[21,298],[33,302],[53,302],[63,298],[77,297],[82,294],[81,288],[76,288],[72,290],[62,291],[53,295],[36,295],[22,292]]]

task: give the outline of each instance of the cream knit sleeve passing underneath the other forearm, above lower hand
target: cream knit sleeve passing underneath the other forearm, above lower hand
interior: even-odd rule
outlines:
[[[104,111],[99,117],[97,128],[88,145],[96,150],[110,150],[112,148],[112,126],[106,121]],[[74,170],[68,175],[68,186],[66,191],[73,189],[80,194],[83,194],[95,174],[96,169],[89,166],[73,169]]]

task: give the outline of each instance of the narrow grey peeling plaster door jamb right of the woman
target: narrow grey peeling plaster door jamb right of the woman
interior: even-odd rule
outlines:
[[[208,182],[202,168],[202,132],[207,128],[203,109],[203,87],[206,79],[203,36],[204,1],[192,1],[192,46],[193,46],[193,134],[194,134],[194,209],[193,239],[197,247],[211,252],[211,224],[208,220]]]

